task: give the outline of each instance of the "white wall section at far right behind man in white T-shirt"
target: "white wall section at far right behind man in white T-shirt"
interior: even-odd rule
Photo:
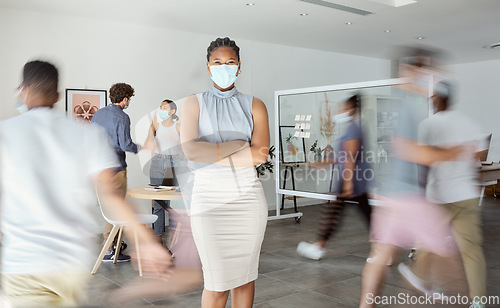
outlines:
[[[457,110],[493,133],[488,160],[500,160],[500,60],[452,67],[458,81]]]

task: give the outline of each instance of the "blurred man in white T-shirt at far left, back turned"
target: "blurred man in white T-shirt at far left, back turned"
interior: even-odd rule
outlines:
[[[52,64],[28,62],[18,97],[24,112],[0,126],[1,287],[14,307],[85,303],[97,256],[96,183],[103,206],[137,233],[143,270],[170,271],[170,254],[114,189],[120,164],[105,132],[54,111],[57,87]]]

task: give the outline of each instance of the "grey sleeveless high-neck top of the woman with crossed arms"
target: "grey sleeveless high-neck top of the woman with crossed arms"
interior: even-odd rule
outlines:
[[[207,142],[227,142],[233,140],[250,141],[253,132],[253,96],[238,92],[236,88],[220,91],[216,87],[195,94],[200,107],[198,118],[198,138]],[[191,169],[224,166],[189,162]]]

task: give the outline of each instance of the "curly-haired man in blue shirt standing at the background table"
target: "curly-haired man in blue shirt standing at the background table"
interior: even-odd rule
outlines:
[[[137,154],[141,150],[141,146],[135,144],[130,137],[130,118],[123,112],[130,104],[130,99],[134,96],[134,88],[126,83],[116,83],[109,89],[110,105],[99,109],[92,118],[92,123],[97,123],[104,127],[109,135],[111,144],[114,147],[118,156],[120,167],[116,169],[114,182],[116,190],[125,198],[127,192],[127,163],[125,162],[125,152]],[[145,147],[146,149],[146,147]],[[148,148],[149,149],[149,148]],[[106,242],[111,229],[113,228],[108,222],[104,226],[104,243]],[[113,242],[113,246],[116,244]],[[103,261],[113,261],[114,249],[108,248],[108,253],[104,256]],[[123,250],[124,248],[122,248]],[[117,262],[126,262],[130,260],[130,256],[120,254]]]

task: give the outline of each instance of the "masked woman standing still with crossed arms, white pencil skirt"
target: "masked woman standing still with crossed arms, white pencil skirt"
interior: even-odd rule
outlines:
[[[200,254],[202,307],[252,307],[267,224],[267,203],[255,165],[269,151],[264,103],[234,85],[240,49],[229,38],[207,48],[213,87],[183,103],[181,145],[194,169],[191,228]]]

